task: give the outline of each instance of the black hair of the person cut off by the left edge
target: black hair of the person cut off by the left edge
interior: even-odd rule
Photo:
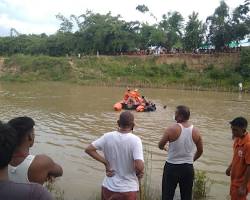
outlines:
[[[0,121],[0,169],[8,166],[17,145],[16,131]]]

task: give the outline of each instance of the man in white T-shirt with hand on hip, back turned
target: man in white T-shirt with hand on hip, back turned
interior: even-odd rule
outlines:
[[[121,113],[117,123],[117,131],[104,134],[92,142],[85,152],[106,168],[102,200],[136,200],[138,179],[142,178],[144,171],[142,142],[132,133],[132,113]],[[97,150],[102,151],[104,157]]]

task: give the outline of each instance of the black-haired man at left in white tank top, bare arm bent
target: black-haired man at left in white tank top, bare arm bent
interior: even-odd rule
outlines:
[[[63,170],[49,156],[31,155],[30,148],[34,144],[35,122],[30,117],[17,117],[8,124],[16,130],[18,144],[9,163],[10,180],[17,183],[36,182],[43,184],[53,177],[62,176]]]

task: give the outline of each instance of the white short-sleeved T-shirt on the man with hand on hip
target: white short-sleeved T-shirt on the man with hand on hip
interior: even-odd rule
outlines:
[[[109,132],[92,143],[104,153],[105,159],[114,170],[114,176],[105,177],[103,186],[113,192],[139,190],[134,169],[134,160],[143,161],[141,139],[132,133]]]

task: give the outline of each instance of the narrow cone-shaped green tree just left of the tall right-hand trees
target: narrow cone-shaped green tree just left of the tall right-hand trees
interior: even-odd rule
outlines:
[[[185,27],[183,45],[187,50],[200,47],[204,39],[205,25],[198,19],[198,13],[193,12],[189,15],[189,21]]]

